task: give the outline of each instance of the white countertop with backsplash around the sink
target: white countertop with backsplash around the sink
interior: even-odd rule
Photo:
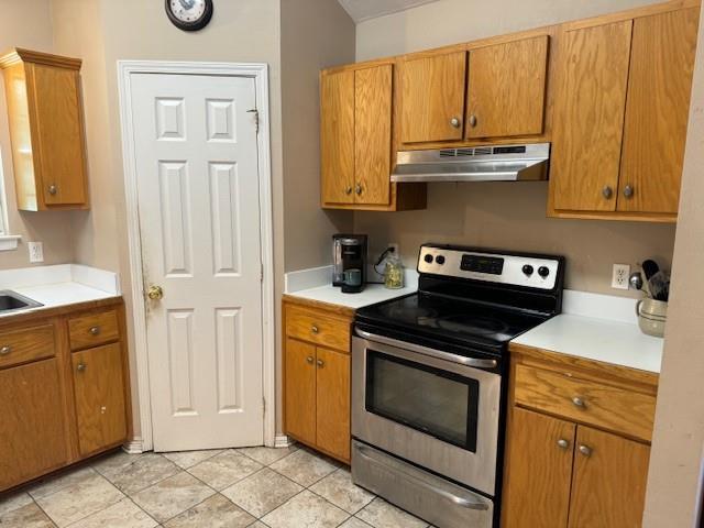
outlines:
[[[116,273],[77,264],[3,270],[0,271],[0,289],[10,289],[42,304],[0,314],[0,317],[120,296]]]

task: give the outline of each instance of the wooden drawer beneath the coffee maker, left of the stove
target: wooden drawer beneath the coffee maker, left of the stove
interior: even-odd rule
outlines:
[[[286,336],[350,352],[350,321],[316,310],[287,306]]]

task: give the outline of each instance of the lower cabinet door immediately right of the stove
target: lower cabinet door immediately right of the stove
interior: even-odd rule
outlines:
[[[506,463],[505,528],[564,528],[576,426],[513,409]]]

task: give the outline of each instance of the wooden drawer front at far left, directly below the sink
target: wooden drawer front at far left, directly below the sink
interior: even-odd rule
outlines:
[[[0,332],[0,369],[54,355],[56,348],[53,324]]]

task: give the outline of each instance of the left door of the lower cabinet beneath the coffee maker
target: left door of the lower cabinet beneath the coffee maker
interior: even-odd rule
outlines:
[[[286,338],[285,418],[288,435],[316,443],[316,346]]]

